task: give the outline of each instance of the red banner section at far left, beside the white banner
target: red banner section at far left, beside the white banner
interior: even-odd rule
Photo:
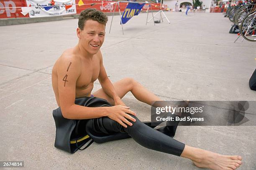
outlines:
[[[21,13],[26,6],[26,0],[0,0],[0,18],[28,18]]]

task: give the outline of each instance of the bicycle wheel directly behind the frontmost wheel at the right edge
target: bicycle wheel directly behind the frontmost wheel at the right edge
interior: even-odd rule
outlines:
[[[246,15],[248,15],[248,13],[251,13],[252,11],[254,11],[255,8],[256,8],[256,4],[248,4],[248,5],[240,7],[235,14],[235,19],[234,19],[235,24],[240,27],[240,25],[241,25],[243,19],[246,17]]]

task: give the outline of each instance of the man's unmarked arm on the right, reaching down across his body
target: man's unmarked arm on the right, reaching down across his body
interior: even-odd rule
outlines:
[[[122,102],[122,100],[116,93],[112,82],[108,78],[105,67],[103,65],[102,54],[101,54],[100,50],[97,55],[100,57],[100,74],[99,74],[98,79],[99,79],[100,85],[102,87],[102,90],[114,100],[115,105],[124,105],[125,106],[125,104]]]

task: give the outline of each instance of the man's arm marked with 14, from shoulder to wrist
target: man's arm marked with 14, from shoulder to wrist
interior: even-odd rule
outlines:
[[[59,60],[57,67],[58,88],[63,117],[67,119],[90,119],[107,116],[106,107],[84,107],[74,104],[76,82],[80,69],[81,65],[77,58],[62,56]]]

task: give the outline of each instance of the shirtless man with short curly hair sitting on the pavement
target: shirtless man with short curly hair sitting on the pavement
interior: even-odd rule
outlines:
[[[79,28],[77,28],[79,42],[75,47],[64,51],[54,64],[52,70],[52,86],[56,102],[58,106],[61,107],[61,112],[65,118],[92,119],[105,117],[111,121],[116,121],[115,123],[118,122],[117,124],[120,127],[127,130],[140,122],[136,117],[136,113],[129,110],[129,107],[121,100],[127,92],[131,91],[136,99],[148,105],[151,105],[151,101],[160,101],[161,99],[146,90],[146,88],[132,78],[124,78],[113,84],[110,82],[100,52],[100,47],[105,38],[105,25],[107,20],[106,15],[99,10],[86,9],[81,12],[78,21]],[[91,96],[93,82],[97,79],[102,89],[93,93],[93,96],[106,99],[113,106],[84,107],[74,104],[75,98],[77,97]],[[153,130],[152,132],[154,133],[156,131],[149,127],[147,132],[150,130]],[[164,142],[166,145],[169,145],[167,140],[171,141],[170,143],[172,143],[172,146],[174,145],[174,148],[176,144],[180,143],[167,135],[158,131],[156,132],[159,137],[165,138]],[[141,136],[145,134],[141,133]],[[154,138],[154,135],[152,136],[151,138]],[[136,140],[136,137],[132,136],[132,138]],[[146,144],[151,142],[148,139],[145,140]],[[157,143],[163,143],[163,141],[159,139],[154,140],[157,141]],[[143,142],[140,144],[146,145],[145,143],[143,144]],[[157,148],[158,146],[151,145],[151,149],[154,149],[154,147]],[[164,149],[170,150],[170,148]],[[163,148],[155,150],[165,152]],[[189,158],[197,167],[210,168],[212,170],[235,170],[242,163],[241,156],[220,155],[207,150],[193,148],[185,144],[178,156]]]

